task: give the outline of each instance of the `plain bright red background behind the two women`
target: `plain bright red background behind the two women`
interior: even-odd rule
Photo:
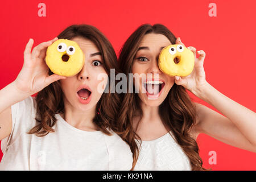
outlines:
[[[38,16],[40,2],[46,4],[46,17]],[[217,17],[208,15],[211,2],[217,5]],[[29,38],[33,38],[37,45],[54,38],[71,24],[92,24],[107,36],[118,53],[138,26],[162,23],[175,36],[180,36],[187,47],[193,46],[207,53],[204,68],[207,81],[214,88],[255,111],[255,9],[256,1],[253,0],[2,1],[0,88],[18,75]],[[199,135],[197,142],[205,168],[256,169],[256,155],[253,152],[229,146],[204,134]],[[216,165],[208,163],[209,151],[217,152]]]

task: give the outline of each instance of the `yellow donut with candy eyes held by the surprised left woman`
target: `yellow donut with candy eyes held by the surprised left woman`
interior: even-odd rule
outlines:
[[[76,42],[59,39],[47,48],[46,64],[57,75],[74,76],[84,65],[84,53]]]

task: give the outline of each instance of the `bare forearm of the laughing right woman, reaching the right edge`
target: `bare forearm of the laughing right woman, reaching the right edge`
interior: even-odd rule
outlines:
[[[256,146],[256,113],[254,111],[224,96],[210,84],[198,91],[197,96],[229,118],[247,140]]]

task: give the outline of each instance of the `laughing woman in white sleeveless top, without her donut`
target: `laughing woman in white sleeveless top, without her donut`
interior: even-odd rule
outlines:
[[[195,55],[195,67],[187,77],[171,77],[160,71],[160,51],[170,44],[184,46],[162,24],[143,24],[126,40],[119,54],[119,67],[129,78],[130,88],[121,97],[118,130],[133,151],[134,169],[205,170],[196,142],[200,133],[256,152],[256,114],[205,80],[203,50],[196,52],[196,48],[188,47]],[[174,61],[179,63],[178,59]],[[130,79],[130,73],[139,78]],[[186,89],[225,117],[192,102]]]

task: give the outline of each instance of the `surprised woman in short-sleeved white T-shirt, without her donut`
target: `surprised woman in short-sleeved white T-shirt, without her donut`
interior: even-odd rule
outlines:
[[[58,38],[75,41],[84,52],[84,67],[75,76],[55,75],[46,65],[47,47]],[[130,147],[112,130],[119,97],[103,92],[115,84],[110,68],[118,71],[112,45],[85,24],[58,38],[34,49],[30,39],[18,77],[0,90],[0,169],[130,170]]]

